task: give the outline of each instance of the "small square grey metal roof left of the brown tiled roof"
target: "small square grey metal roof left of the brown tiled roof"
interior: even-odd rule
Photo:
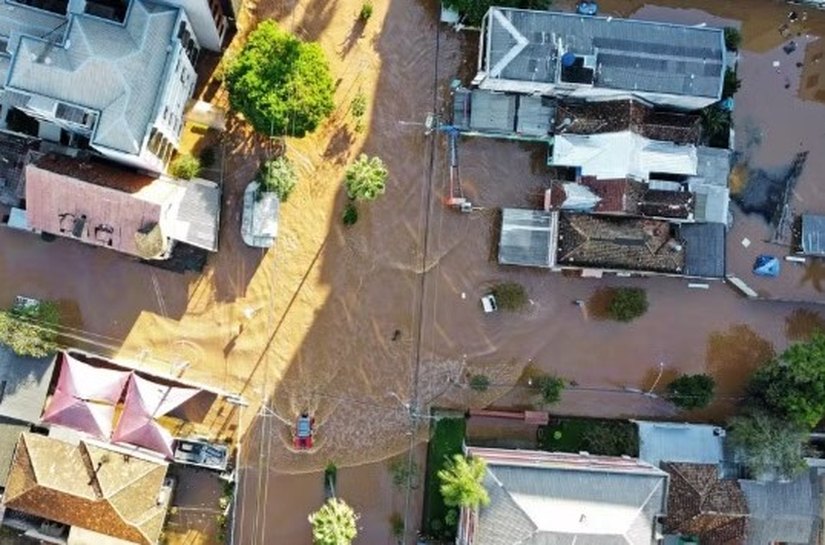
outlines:
[[[558,213],[504,208],[498,262],[502,265],[553,267],[556,264]]]

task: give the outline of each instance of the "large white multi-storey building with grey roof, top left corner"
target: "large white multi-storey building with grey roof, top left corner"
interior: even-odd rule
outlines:
[[[223,1],[0,0],[0,128],[162,172]]]

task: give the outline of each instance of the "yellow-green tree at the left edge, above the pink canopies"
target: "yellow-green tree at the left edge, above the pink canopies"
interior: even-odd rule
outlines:
[[[18,356],[44,358],[57,352],[59,321],[57,306],[51,301],[0,311],[0,344]]]

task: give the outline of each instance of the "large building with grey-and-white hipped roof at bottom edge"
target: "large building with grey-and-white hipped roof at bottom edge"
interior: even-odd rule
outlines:
[[[626,457],[468,447],[487,462],[490,504],[462,509],[458,545],[651,545],[668,475]]]

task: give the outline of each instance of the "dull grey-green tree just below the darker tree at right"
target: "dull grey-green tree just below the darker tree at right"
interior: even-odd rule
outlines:
[[[790,478],[805,468],[807,433],[801,426],[764,411],[735,417],[730,425],[730,444],[752,476]]]

